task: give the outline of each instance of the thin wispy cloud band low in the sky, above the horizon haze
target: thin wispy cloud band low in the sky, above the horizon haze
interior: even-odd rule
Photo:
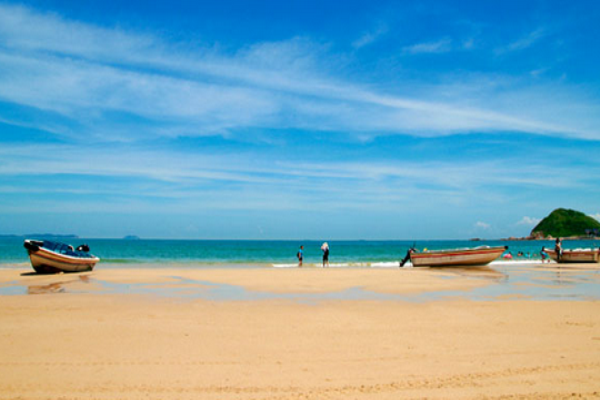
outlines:
[[[131,190],[128,187],[126,192],[134,193],[133,196],[196,198],[194,194],[207,190],[247,188],[254,197],[262,197],[265,204],[270,204],[269,199],[279,197],[277,193],[285,187],[286,192],[296,194],[288,207],[329,199],[332,204],[346,203],[353,204],[353,207],[376,201],[395,208],[400,199],[410,201],[414,198],[422,202],[424,196],[467,201],[472,193],[486,193],[479,194],[478,198],[493,198],[501,194],[499,188],[505,186],[515,190],[532,187],[574,190],[588,185],[586,181],[578,180],[577,170],[559,166],[535,167],[530,162],[514,163],[512,168],[488,161],[415,163],[382,159],[370,163],[352,160],[317,162],[267,150],[252,154],[233,150],[213,154],[211,149],[190,152],[137,146],[132,152],[127,144],[110,144],[96,145],[93,152],[85,152],[76,144],[42,143],[6,144],[0,149],[0,157],[3,160],[0,176],[5,177],[5,184],[0,184],[0,190],[10,190],[13,185],[11,178],[36,176],[38,184],[32,186],[37,190],[54,192],[63,185],[47,186],[48,179],[73,176],[79,177],[82,182],[109,178],[111,182],[152,183],[147,190]],[[28,161],[23,162],[24,159]],[[104,190],[99,184],[87,187],[87,190],[98,190],[103,195],[115,191],[112,186]],[[197,201],[205,203],[202,198]],[[245,202],[238,202],[237,207],[246,206]]]

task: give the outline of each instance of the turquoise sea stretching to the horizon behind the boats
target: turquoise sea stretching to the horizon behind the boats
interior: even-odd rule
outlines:
[[[74,239],[70,244],[87,243],[91,253],[101,258],[103,268],[177,266],[202,267],[291,267],[296,253],[304,246],[304,264],[321,264],[322,241],[248,241],[248,240],[119,240]],[[539,260],[542,246],[552,241],[327,241],[332,266],[386,267],[397,265],[414,244],[419,250],[476,246],[508,246],[513,260]],[[565,241],[564,248],[598,247],[598,240]],[[521,252],[522,256],[517,256]],[[23,239],[0,238],[0,266],[28,265]]]

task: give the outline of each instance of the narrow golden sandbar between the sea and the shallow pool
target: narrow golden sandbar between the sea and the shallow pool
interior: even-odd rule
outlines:
[[[416,273],[415,273],[416,272]],[[172,297],[227,293],[232,299],[240,292],[275,295],[330,294],[362,291],[366,294],[410,295],[443,291],[469,291],[490,284],[485,279],[460,276],[452,271],[390,268],[122,268],[98,269],[75,274],[39,275],[29,270],[0,270],[2,287],[23,289],[56,288],[62,293],[163,294]],[[480,271],[490,279],[492,270]],[[27,289],[27,290],[25,290]],[[36,290],[37,290],[36,289]],[[154,290],[150,290],[154,289]],[[178,295],[178,293],[180,295]],[[20,294],[14,290],[13,294]]]

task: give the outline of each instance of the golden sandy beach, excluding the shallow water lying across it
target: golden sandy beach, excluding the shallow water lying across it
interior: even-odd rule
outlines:
[[[0,296],[0,398],[600,398],[597,300],[326,296],[352,288],[469,293],[495,284],[491,269],[474,274],[2,270],[0,284],[23,293]],[[160,296],[133,289],[141,283],[270,296]],[[277,297],[286,293],[317,296]]]

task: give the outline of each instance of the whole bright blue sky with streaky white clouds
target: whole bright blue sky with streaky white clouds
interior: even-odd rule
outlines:
[[[600,219],[596,1],[0,2],[0,233]]]

